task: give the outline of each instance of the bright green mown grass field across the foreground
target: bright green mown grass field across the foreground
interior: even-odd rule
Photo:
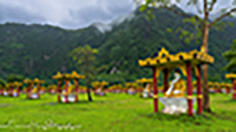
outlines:
[[[40,100],[0,97],[0,132],[208,132],[236,131],[236,101],[211,95],[214,114],[187,117],[153,114],[151,99],[108,94],[80,103],[59,104],[55,95]],[[163,106],[161,106],[163,107]]]

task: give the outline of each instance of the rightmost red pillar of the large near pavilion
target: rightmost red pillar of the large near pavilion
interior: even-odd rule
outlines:
[[[202,114],[202,84],[201,84],[201,66],[197,66],[197,106],[198,106],[198,114]]]

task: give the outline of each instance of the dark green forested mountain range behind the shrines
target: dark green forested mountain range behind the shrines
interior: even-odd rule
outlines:
[[[151,21],[147,21],[146,13],[136,10],[119,23],[93,24],[79,30],[65,30],[49,25],[2,24],[1,76],[21,74],[50,78],[58,70],[71,71],[75,66],[68,53],[79,45],[89,44],[99,49],[99,79],[132,80],[150,75],[149,70],[138,66],[138,59],[153,55],[161,47],[174,53],[200,47],[194,41],[187,44],[179,39],[178,34],[167,31],[167,28],[187,29],[182,17],[165,9],[157,9],[154,13],[156,17]],[[236,19],[230,21],[235,23],[234,27],[228,26],[210,33],[210,54],[215,57],[215,64],[209,70],[210,77],[217,74],[223,76],[220,71],[226,62],[222,53],[229,49],[232,40],[236,38]]]

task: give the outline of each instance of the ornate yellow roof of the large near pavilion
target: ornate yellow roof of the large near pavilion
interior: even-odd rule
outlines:
[[[148,57],[144,60],[139,60],[139,65],[142,67],[172,68],[187,62],[193,65],[211,64],[214,62],[214,58],[206,54],[203,47],[201,51],[193,50],[190,52],[179,52],[177,54],[170,54],[165,48],[162,48],[156,57]]]

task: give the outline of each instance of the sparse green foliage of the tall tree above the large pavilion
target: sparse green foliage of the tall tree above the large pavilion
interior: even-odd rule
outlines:
[[[183,1],[183,0],[182,0]],[[206,29],[205,25],[207,25],[209,28],[214,27],[215,30],[223,30],[228,25],[232,26],[232,22],[225,22],[222,21],[224,17],[232,15],[234,12],[236,12],[236,8],[234,7],[236,4],[235,2],[232,2],[232,5],[227,6],[226,8],[223,8],[221,10],[221,14],[223,17],[218,17],[216,19],[211,20],[210,15],[213,11],[214,6],[217,4],[217,0],[210,0],[203,2],[199,2],[199,0],[188,0],[187,6],[191,6],[191,8],[195,8],[198,13],[196,14],[186,14],[185,12],[178,10],[176,4],[180,3],[181,0],[144,0],[143,3],[138,3],[140,5],[140,11],[145,11],[147,15],[149,16],[148,20],[152,19],[152,12],[154,11],[153,8],[166,8],[175,14],[178,14],[180,16],[185,17],[183,20],[183,23],[190,25],[188,29],[185,29],[184,27],[179,27],[176,32],[179,33],[179,38],[184,41],[185,43],[191,43],[193,41],[196,41],[198,44],[201,44],[203,36],[203,31]],[[186,1],[184,1],[186,2]],[[174,5],[174,4],[175,5]],[[157,6],[158,5],[158,6]],[[201,8],[206,5],[206,8]],[[234,10],[229,11],[230,8],[233,8]],[[206,15],[208,14],[208,15]],[[216,20],[216,22],[215,22]],[[167,29],[170,31],[170,28]]]

